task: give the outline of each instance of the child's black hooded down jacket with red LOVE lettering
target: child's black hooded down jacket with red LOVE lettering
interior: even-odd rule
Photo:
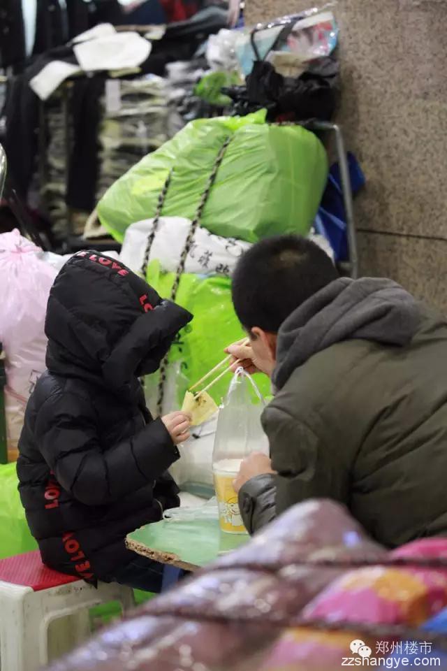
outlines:
[[[79,252],[50,292],[47,371],[29,398],[17,474],[44,563],[87,580],[128,563],[126,534],[179,504],[179,457],[139,375],[191,315],[121,263]]]

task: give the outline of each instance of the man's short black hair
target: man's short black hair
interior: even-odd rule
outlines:
[[[300,236],[265,238],[245,252],[233,274],[233,305],[247,331],[277,333],[284,319],[339,277],[321,247]]]

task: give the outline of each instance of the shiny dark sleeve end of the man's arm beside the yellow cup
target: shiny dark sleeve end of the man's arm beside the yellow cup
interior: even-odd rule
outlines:
[[[274,519],[276,494],[275,476],[270,473],[256,475],[240,488],[239,507],[249,533],[255,533]]]

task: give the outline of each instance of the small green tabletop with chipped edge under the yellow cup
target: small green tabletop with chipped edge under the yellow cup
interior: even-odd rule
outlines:
[[[162,520],[129,534],[127,546],[161,563],[193,571],[247,540],[248,534],[223,533],[217,519]]]

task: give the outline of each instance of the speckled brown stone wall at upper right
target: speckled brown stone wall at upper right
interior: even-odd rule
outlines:
[[[310,6],[247,0],[247,22]],[[367,176],[360,271],[393,277],[447,314],[447,0],[339,0],[335,14],[338,121]]]

